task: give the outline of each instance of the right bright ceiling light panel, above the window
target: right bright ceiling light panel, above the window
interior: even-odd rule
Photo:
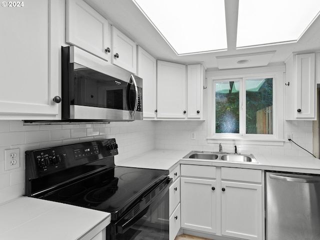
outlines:
[[[320,0],[239,0],[236,46],[296,41],[320,11]]]

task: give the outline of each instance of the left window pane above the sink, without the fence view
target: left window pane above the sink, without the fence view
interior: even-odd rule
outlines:
[[[239,81],[215,82],[215,132],[239,133]]]

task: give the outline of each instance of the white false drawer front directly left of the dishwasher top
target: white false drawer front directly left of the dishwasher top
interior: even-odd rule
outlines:
[[[262,182],[261,170],[221,167],[221,178],[237,181]]]

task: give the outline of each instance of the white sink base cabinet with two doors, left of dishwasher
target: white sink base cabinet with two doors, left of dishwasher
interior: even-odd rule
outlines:
[[[181,164],[181,227],[261,240],[262,179],[256,169]]]

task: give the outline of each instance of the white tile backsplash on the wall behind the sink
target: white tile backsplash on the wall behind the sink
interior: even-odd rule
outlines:
[[[191,131],[195,140],[191,140]],[[312,121],[284,121],[284,132],[292,132],[292,140],[312,152]],[[155,125],[156,148],[218,151],[218,144],[207,143],[206,136],[206,121],[158,121]],[[222,147],[224,151],[234,150],[234,144]],[[309,155],[292,142],[283,146],[237,144],[237,149],[253,154]]]

